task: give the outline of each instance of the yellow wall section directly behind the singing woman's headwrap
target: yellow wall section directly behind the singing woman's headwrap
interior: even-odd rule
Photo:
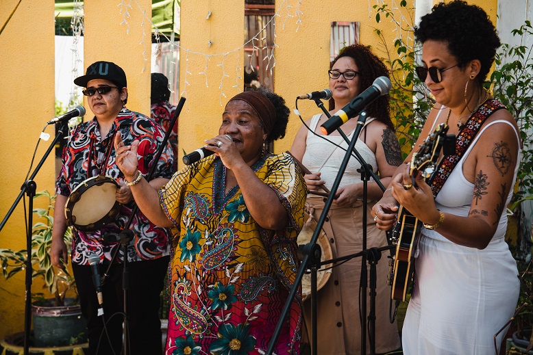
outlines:
[[[185,0],[181,5],[179,96],[186,102],[179,116],[180,167],[183,150],[190,153],[219,134],[225,104],[242,91],[243,79],[238,88],[233,86],[237,85],[236,66],[243,68],[243,49],[230,52],[243,47],[245,38],[243,0]],[[239,73],[242,77],[243,70]]]

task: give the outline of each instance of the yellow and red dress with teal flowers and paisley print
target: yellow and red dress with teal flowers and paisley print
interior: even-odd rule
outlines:
[[[265,354],[297,272],[306,184],[289,155],[252,167],[289,216],[282,231],[260,227],[214,155],[177,172],[160,190],[173,227],[171,306],[165,354]],[[299,294],[275,354],[299,354]]]

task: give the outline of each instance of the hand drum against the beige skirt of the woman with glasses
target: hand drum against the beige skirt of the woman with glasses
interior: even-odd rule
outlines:
[[[307,211],[304,212],[303,220],[306,221],[301,228],[300,234],[298,235],[298,244],[308,244],[311,240],[314,230],[317,227],[317,221],[314,218],[311,218]],[[331,260],[333,259],[332,248],[330,246],[330,241],[327,240],[327,235],[324,230],[321,230],[319,234],[319,239],[317,239],[317,244],[319,244],[322,249],[322,255],[320,261]],[[332,264],[322,265],[321,269],[317,272],[317,291],[324,287],[327,280],[329,280],[332,273],[331,269],[323,270],[324,268],[331,267]],[[311,275],[303,274],[301,279],[301,298],[306,300],[311,296]]]

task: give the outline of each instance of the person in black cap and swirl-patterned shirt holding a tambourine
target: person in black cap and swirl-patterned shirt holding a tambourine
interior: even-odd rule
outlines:
[[[58,208],[54,212],[50,258],[55,267],[64,268],[64,263],[68,261],[64,242],[67,224],[62,207],[71,192],[92,176],[110,176],[119,183],[116,200],[122,206],[116,220],[92,232],[73,228],[71,258],[82,313],[88,321],[89,354],[120,354],[124,255],[122,251],[119,253],[119,260],[114,261],[103,284],[103,317],[98,315],[99,302],[89,265],[90,257],[97,255],[99,272],[103,275],[114,250],[120,248],[116,235],[125,227],[135,206],[129,185],[136,181],[125,179],[116,166],[113,138],[121,136],[127,144],[136,142],[142,161],[138,169],[142,174],[147,174],[156,164],[154,177],[149,183],[155,189],[169,181],[175,172],[173,153],[167,144],[160,159],[154,160],[164,133],[153,120],[125,107],[128,91],[126,75],[121,67],[112,62],[96,62],[87,68],[86,75],[77,77],[74,83],[86,88],[83,94],[87,96],[95,117],[76,127],[62,153],[62,168],[55,189]],[[99,201],[94,201],[94,204],[97,209]],[[133,245],[127,252],[129,354],[162,354],[159,306],[169,265],[169,230],[151,224],[141,212],[134,215],[129,227],[134,232]]]

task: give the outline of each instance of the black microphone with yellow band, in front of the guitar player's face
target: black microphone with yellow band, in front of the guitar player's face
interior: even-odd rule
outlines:
[[[348,105],[337,111],[329,120],[321,125],[321,131],[328,135],[342,126],[352,117],[361,113],[364,107],[367,107],[372,101],[391,91],[391,79],[388,77],[378,77],[372,83],[372,86],[364,90],[360,95],[354,97]]]

